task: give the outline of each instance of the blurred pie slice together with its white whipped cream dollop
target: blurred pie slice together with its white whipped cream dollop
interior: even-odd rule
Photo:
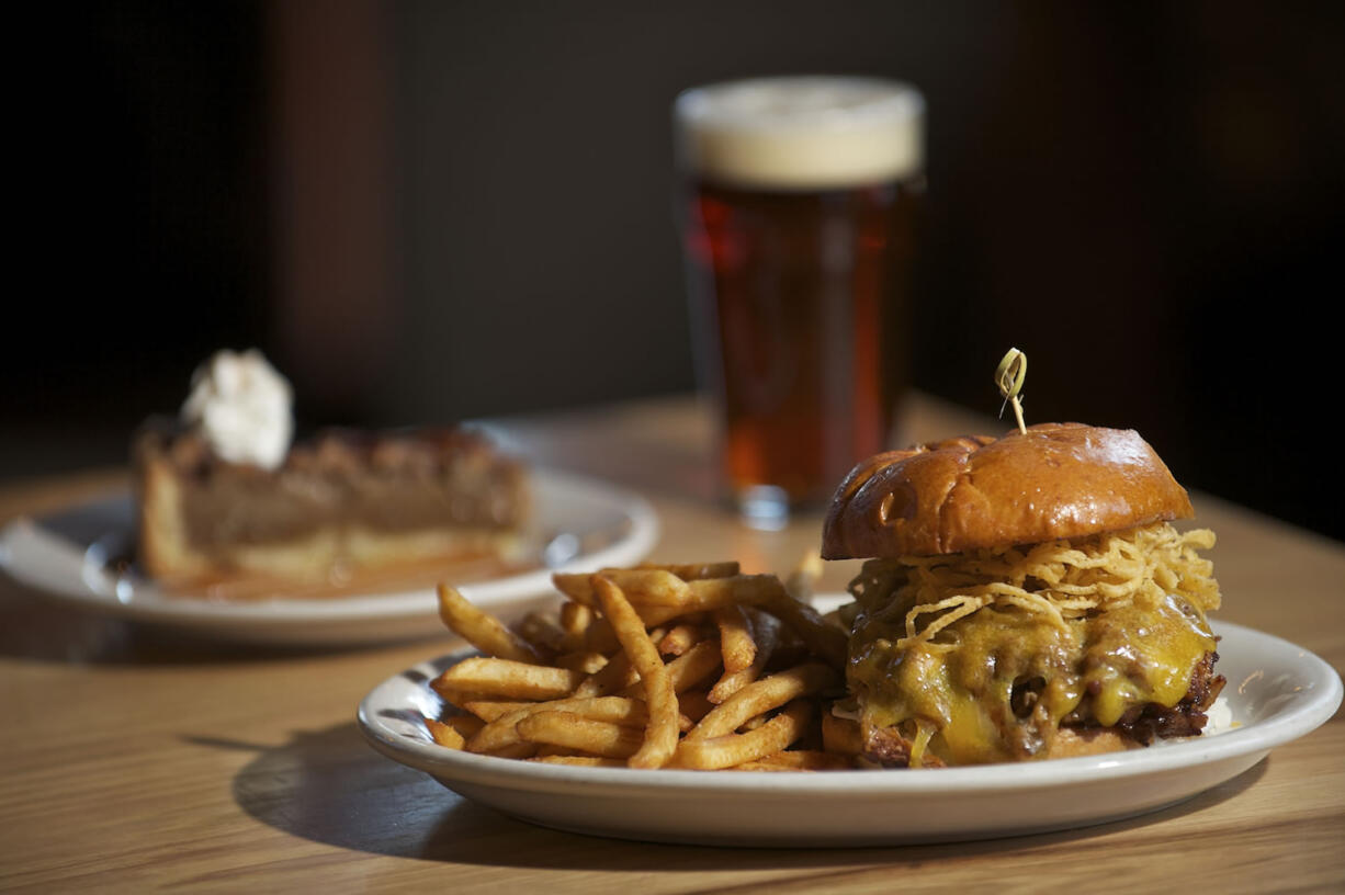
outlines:
[[[133,448],[140,563],[169,587],[229,594],[437,578],[508,559],[527,515],[525,468],[473,430],[330,430],[291,443],[291,386],[258,351],[221,351],[180,418]],[[459,578],[461,579],[461,578]],[[252,582],[250,585],[239,582]],[[272,585],[286,582],[277,591]]]

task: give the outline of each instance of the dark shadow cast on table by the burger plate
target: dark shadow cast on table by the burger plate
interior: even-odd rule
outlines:
[[[213,747],[237,743],[192,739]],[[250,747],[246,747],[250,749]],[[1268,761],[1268,759],[1267,759]],[[1216,808],[1256,783],[1263,761],[1180,805],[1077,830],[974,843],[892,848],[709,848],[599,840],[512,820],[477,806],[367,746],[354,723],[295,735],[262,750],[234,777],[234,798],[257,820],[303,839],[375,855],[547,869],[751,869],[921,864],[1053,847]],[[592,847],[599,844],[599,847]]]

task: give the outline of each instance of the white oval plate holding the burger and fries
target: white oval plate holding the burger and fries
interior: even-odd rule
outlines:
[[[1287,641],[1216,625],[1231,723],[1149,749],[937,770],[642,771],[472,755],[434,744],[429,681],[465,653],[383,681],[359,706],[374,749],[506,814],[577,833],[702,845],[889,845],[991,839],[1153,812],[1236,777],[1322,724],[1341,701],[1330,665]]]

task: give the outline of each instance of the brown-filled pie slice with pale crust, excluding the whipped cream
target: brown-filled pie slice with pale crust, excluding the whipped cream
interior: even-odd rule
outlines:
[[[219,458],[196,431],[147,426],[134,472],[140,563],[168,585],[340,582],[504,556],[529,505],[523,465],[464,429],[331,430],[266,469]]]

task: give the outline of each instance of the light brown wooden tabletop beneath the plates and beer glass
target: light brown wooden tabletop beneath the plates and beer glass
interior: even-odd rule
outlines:
[[[1007,429],[916,395],[908,437]],[[503,421],[537,462],[636,488],[652,558],[785,571],[819,516],[783,532],[713,500],[691,399]],[[1161,445],[1158,446],[1161,450]],[[1174,470],[1181,477],[1181,470]],[[0,523],[125,486],[121,470],[0,489]],[[1345,667],[1345,547],[1202,495],[1217,618]],[[842,589],[851,567],[827,571]],[[375,754],[354,723],[378,681],[448,637],[363,649],[249,648],[58,606],[0,575],[0,888],[30,891],[1216,892],[1345,890],[1345,722],[1139,820],[982,843],[865,849],[652,845],[534,828]]]

